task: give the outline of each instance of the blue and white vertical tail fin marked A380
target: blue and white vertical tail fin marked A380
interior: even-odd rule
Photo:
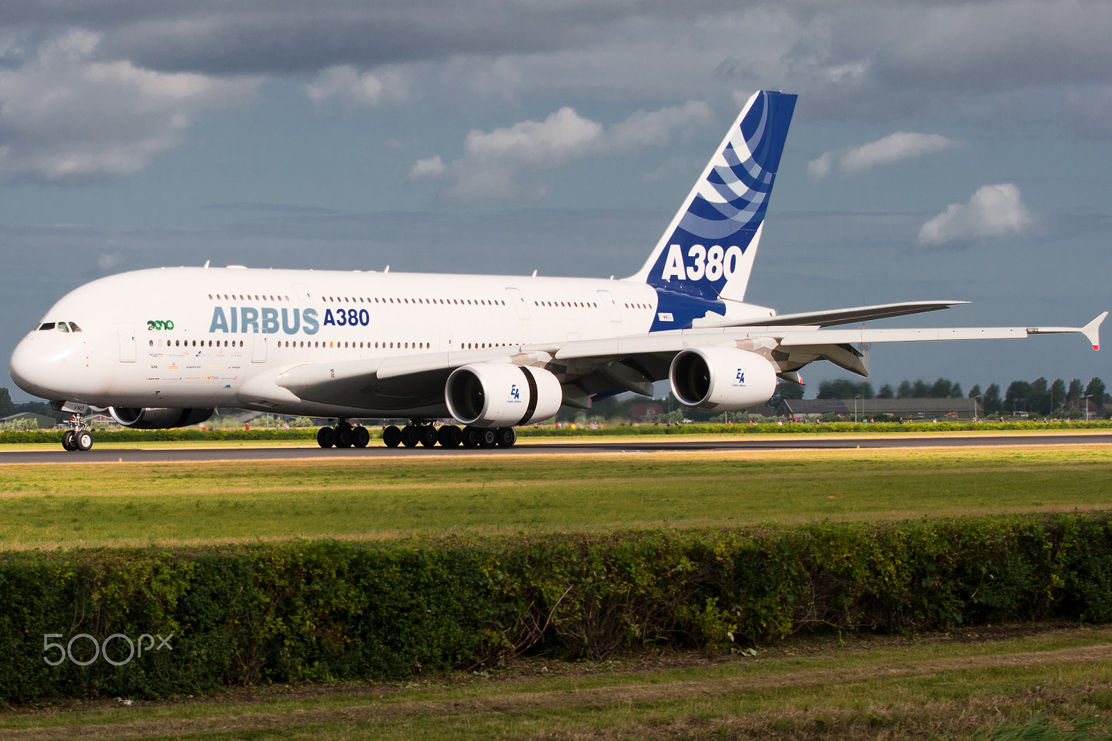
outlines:
[[[653,330],[684,329],[741,301],[753,269],[768,196],[796,96],[762,90],[729,127],[656,249],[631,280],[657,290]]]

